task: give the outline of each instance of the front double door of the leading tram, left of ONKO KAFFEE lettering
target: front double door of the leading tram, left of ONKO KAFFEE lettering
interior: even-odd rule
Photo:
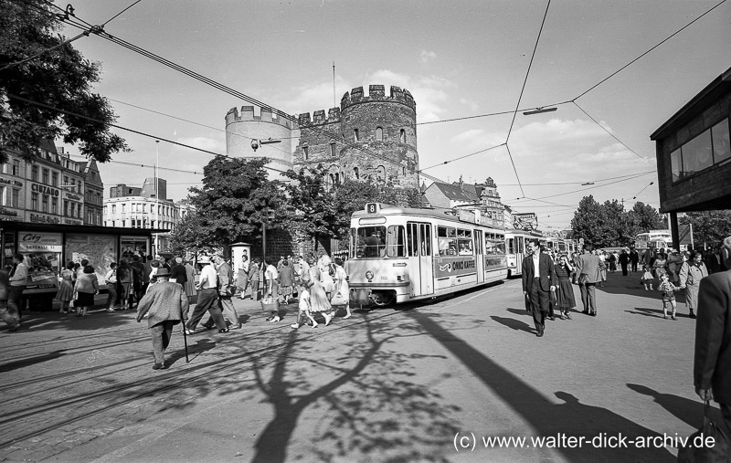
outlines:
[[[408,273],[414,296],[434,293],[431,226],[422,222],[407,223]]]

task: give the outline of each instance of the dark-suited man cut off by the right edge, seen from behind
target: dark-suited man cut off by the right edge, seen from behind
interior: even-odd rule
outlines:
[[[726,268],[731,268],[731,237],[721,248]],[[701,279],[698,318],[695,323],[693,376],[695,393],[721,405],[726,430],[731,433],[731,270]],[[728,434],[726,434],[728,436]],[[731,448],[729,455],[731,457]],[[731,461],[731,458],[729,458]]]

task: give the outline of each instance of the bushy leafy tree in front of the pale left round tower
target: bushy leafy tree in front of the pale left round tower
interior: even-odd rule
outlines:
[[[188,200],[193,212],[185,216],[174,234],[175,247],[224,247],[261,236],[261,225],[282,223],[280,210],[285,198],[281,182],[270,181],[264,165],[267,159],[216,156],[203,168],[203,187],[190,188]],[[186,235],[187,234],[187,235]]]

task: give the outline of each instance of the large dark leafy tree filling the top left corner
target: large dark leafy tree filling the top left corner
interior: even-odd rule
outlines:
[[[104,163],[112,153],[129,149],[107,125],[116,121],[109,101],[91,91],[100,79],[100,65],[64,44],[51,8],[42,0],[0,0],[0,162],[6,162],[7,150],[32,159],[41,141],[62,138],[79,142],[80,153]]]

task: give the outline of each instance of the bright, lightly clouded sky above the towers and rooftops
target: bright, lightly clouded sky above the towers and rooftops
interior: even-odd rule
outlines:
[[[98,25],[134,2],[73,6]],[[142,0],[104,30],[289,114],[327,110],[359,86],[408,89],[424,173],[492,177],[504,204],[551,230],[569,227],[586,195],[660,207],[650,135],[731,67],[731,1],[683,29],[719,3]],[[248,102],[101,37],[73,45],[101,64],[94,90],[119,125],[226,154],[226,113]],[[557,110],[523,114],[541,107]],[[132,153],[100,165],[105,195],[142,185],[157,157],[168,197],[183,199],[211,159],[113,132]]]

